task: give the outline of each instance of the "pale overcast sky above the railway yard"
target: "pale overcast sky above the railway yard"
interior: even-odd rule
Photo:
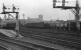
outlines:
[[[21,14],[25,13],[25,18],[27,17],[34,18],[34,17],[38,17],[39,14],[43,14],[44,20],[74,19],[74,15],[70,10],[61,10],[59,8],[58,9],[53,8],[53,0],[0,0],[1,8],[3,2],[8,7],[10,7],[14,3],[17,7],[20,8],[19,11]]]

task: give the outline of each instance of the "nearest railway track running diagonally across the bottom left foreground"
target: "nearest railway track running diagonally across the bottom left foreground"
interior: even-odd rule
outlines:
[[[56,50],[54,48],[35,45],[32,43],[9,38],[0,38],[0,46],[3,46],[3,48],[7,48],[8,50]]]

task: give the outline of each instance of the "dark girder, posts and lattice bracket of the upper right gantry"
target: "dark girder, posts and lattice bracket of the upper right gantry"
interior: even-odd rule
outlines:
[[[75,6],[65,6],[65,3],[68,3],[66,2],[66,0],[62,0],[62,6],[56,6],[56,3],[57,3],[57,0],[53,0],[53,8],[61,8],[63,10],[71,9],[72,13],[75,15],[75,20],[76,21],[80,20],[80,16],[79,16],[80,6],[78,3],[78,0],[76,0]]]

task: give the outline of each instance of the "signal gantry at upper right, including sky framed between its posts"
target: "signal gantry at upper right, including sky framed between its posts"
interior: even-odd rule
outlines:
[[[53,0],[53,8],[61,8],[63,10],[71,9],[75,15],[75,20],[79,21],[79,3],[78,0]]]

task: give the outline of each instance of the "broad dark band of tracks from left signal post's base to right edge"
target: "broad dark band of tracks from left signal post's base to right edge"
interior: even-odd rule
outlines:
[[[74,47],[74,48],[81,48],[81,39],[80,37],[74,36],[66,36],[65,34],[57,34],[57,33],[38,33],[34,31],[25,31],[24,29],[20,32],[23,33],[24,36],[32,37],[35,39],[40,39],[44,41],[48,41],[51,43],[56,43],[62,46]]]

